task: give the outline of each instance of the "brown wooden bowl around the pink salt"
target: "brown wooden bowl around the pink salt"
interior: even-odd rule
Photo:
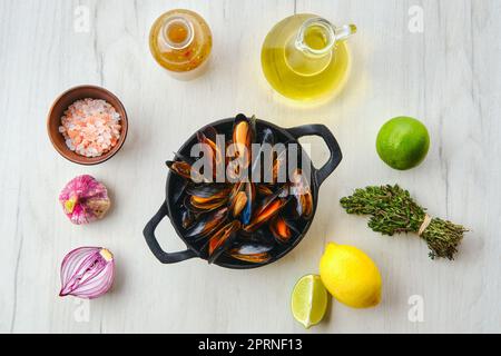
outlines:
[[[63,116],[63,112],[75,101],[86,98],[106,100],[120,115],[120,138],[112,149],[99,157],[85,157],[70,150],[68,146],[66,146],[65,137],[59,132],[59,126],[61,126],[61,117]],[[115,156],[125,142],[127,129],[128,120],[124,105],[110,91],[95,86],[79,86],[65,91],[55,100],[52,107],[50,108],[49,116],[47,117],[47,131],[56,150],[66,159],[75,164],[86,166],[101,164]]]

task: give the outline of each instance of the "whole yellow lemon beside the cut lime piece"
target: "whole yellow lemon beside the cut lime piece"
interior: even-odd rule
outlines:
[[[382,279],[377,266],[353,246],[328,244],[320,263],[327,290],[353,308],[370,308],[381,301]]]

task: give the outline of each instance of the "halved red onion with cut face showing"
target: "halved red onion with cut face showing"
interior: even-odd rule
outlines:
[[[114,255],[101,247],[80,247],[66,255],[61,264],[59,296],[94,299],[111,288],[115,277]]]

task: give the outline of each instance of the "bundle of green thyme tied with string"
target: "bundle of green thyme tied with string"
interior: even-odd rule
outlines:
[[[341,199],[347,214],[371,215],[369,227],[383,235],[415,233],[430,248],[430,258],[454,259],[464,233],[463,226],[431,218],[407,190],[395,186],[367,187]]]

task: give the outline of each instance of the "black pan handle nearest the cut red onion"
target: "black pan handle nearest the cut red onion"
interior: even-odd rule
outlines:
[[[177,264],[183,260],[197,257],[197,254],[191,249],[173,254],[168,254],[161,249],[157,238],[155,237],[155,229],[166,216],[168,216],[168,209],[166,204],[164,202],[160,209],[158,209],[158,212],[155,214],[155,216],[151,218],[151,220],[148,221],[148,224],[146,224],[145,229],[143,230],[146,243],[148,244],[148,247],[155,255],[155,257],[157,257],[158,260],[163,264]]]

